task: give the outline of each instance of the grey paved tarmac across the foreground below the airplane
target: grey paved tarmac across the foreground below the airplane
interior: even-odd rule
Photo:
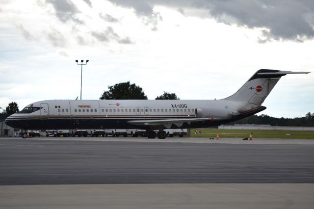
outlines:
[[[117,199],[108,208],[125,208],[119,192],[133,197],[121,196],[127,208],[264,208],[267,200],[268,208],[310,208],[313,159],[313,140],[1,138],[0,207],[26,208],[13,204],[26,191],[32,191],[27,194],[35,203],[41,202],[37,195],[47,194],[47,204],[66,195],[64,191],[80,191],[77,196],[68,193],[68,199],[101,195],[89,208],[102,208],[109,194]],[[141,205],[143,201],[154,207]],[[35,203],[30,201],[29,208]]]

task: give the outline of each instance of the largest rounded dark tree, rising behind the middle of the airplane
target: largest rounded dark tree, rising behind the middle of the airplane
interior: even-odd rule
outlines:
[[[101,100],[147,100],[143,89],[135,83],[128,82],[116,83],[108,86],[109,91],[105,91],[99,98]]]

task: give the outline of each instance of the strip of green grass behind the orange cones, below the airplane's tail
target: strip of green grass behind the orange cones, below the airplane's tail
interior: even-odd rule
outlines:
[[[195,130],[201,133],[194,133]],[[314,131],[281,131],[281,130],[224,130],[224,129],[191,129],[191,137],[196,138],[246,138],[252,133],[253,138],[314,139]]]

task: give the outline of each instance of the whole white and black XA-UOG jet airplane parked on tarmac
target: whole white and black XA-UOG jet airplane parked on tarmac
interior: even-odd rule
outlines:
[[[203,128],[230,123],[261,112],[282,76],[308,74],[258,70],[230,97],[221,100],[45,100],[27,105],[5,123],[23,130],[144,129],[148,138],[164,129]],[[26,137],[24,131],[22,137]]]

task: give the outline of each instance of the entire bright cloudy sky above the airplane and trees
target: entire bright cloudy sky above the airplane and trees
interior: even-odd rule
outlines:
[[[313,0],[0,0],[0,106],[99,99],[131,81],[149,99],[222,99],[259,69],[283,77],[260,114],[314,112]]]

